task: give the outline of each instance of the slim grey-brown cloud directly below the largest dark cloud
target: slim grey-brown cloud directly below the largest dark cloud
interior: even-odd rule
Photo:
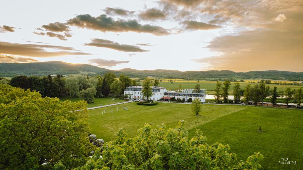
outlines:
[[[84,45],[95,46],[95,47],[105,47],[105,48],[110,48],[113,50],[125,51],[125,52],[146,52],[147,51],[147,50],[142,50],[140,47],[135,46],[135,45],[119,44],[114,41],[98,39],[98,38],[94,38],[91,40],[92,40],[91,43],[86,43]]]

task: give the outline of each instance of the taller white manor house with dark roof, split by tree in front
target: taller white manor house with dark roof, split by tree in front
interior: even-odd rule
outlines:
[[[152,95],[150,99],[160,100],[167,91],[164,87],[151,86]],[[143,99],[142,86],[129,86],[124,90],[124,95],[128,95],[130,99]],[[145,97],[146,99],[146,97]]]

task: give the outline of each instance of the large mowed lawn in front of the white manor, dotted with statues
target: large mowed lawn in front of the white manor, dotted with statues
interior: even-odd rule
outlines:
[[[262,162],[264,169],[303,169],[302,110],[204,104],[201,116],[195,116],[189,104],[141,106],[133,102],[117,106],[89,110],[91,132],[105,142],[116,139],[119,128],[123,128],[128,137],[134,137],[145,123],[153,127],[164,123],[168,129],[184,119],[190,137],[194,136],[195,129],[200,129],[208,138],[208,144],[217,141],[229,144],[238,160],[246,160],[259,151],[265,158]],[[128,107],[128,111],[123,110],[123,106]],[[106,113],[102,115],[104,110]],[[257,132],[260,125],[264,132]],[[281,158],[289,158],[297,164],[281,166]]]

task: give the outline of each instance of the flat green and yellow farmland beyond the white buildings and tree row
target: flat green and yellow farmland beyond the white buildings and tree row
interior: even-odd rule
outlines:
[[[167,90],[174,90],[175,88],[178,88],[179,87],[179,84],[182,84],[182,88],[183,89],[190,89],[190,88],[194,88],[195,85],[197,84],[200,84],[200,87],[201,89],[206,89],[207,90],[207,94],[214,94],[215,91],[215,86],[216,86],[216,81],[200,81],[199,83],[198,82],[174,82],[174,83],[170,83],[170,82],[160,82],[160,86],[161,87],[165,87]],[[233,88],[234,88],[234,83],[235,82],[231,82],[231,87],[229,88],[229,93],[232,94],[232,91],[233,91]],[[240,88],[241,89],[244,89],[245,86],[247,84],[251,84],[251,86],[254,86],[255,84],[258,84],[258,83],[246,83],[246,82],[240,82]],[[277,87],[278,91],[279,90],[283,90],[285,91],[285,89],[287,87],[290,87],[292,90],[293,89],[298,89],[300,87],[303,87],[303,86],[296,86],[296,85],[279,85],[279,84],[266,84],[270,87],[270,89],[273,89],[275,86]]]

